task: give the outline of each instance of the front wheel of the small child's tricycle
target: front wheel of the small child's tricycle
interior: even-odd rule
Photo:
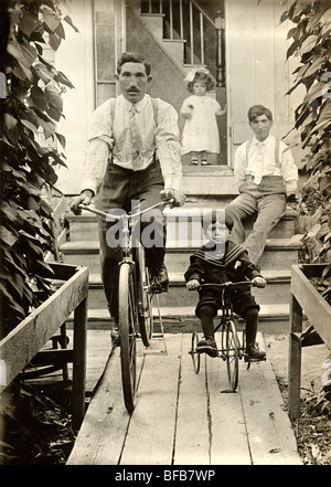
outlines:
[[[235,391],[238,385],[239,343],[237,330],[232,319],[225,324],[225,359],[229,387],[232,391]]]

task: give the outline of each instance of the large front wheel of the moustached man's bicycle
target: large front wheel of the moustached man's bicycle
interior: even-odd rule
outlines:
[[[137,300],[132,267],[122,264],[119,271],[118,321],[120,338],[120,366],[124,401],[131,413],[136,402],[136,330]]]

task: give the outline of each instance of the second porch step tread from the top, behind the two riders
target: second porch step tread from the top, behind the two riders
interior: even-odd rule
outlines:
[[[168,252],[179,252],[179,253],[189,253],[194,251],[196,247],[175,247],[171,246],[171,242],[167,244]],[[270,251],[274,248],[282,248],[282,250],[295,250],[301,248],[302,243],[297,240],[291,239],[268,239],[266,242],[266,251]],[[96,253],[99,250],[98,241],[75,241],[75,242],[65,242],[60,246],[60,251],[66,254],[73,253]]]

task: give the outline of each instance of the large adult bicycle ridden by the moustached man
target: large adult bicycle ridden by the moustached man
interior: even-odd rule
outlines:
[[[153,335],[152,299],[154,296],[161,324],[159,296],[151,287],[150,273],[145,264],[145,247],[140,242],[137,242],[135,245],[131,242],[132,221],[152,209],[158,207],[163,207],[164,209],[171,203],[173,203],[173,200],[161,201],[134,214],[111,215],[114,220],[121,220],[122,223],[122,260],[119,263],[118,284],[118,325],[122,393],[125,406],[129,413],[134,411],[136,405],[136,340],[140,335],[145,347],[150,346]],[[107,213],[84,204],[79,204],[79,208],[99,216],[109,218]]]

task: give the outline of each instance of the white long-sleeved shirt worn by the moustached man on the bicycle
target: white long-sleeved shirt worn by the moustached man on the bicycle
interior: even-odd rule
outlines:
[[[92,115],[88,147],[83,167],[81,190],[89,189],[96,193],[103,181],[108,160],[115,165],[134,169],[132,144],[130,137],[131,104],[122,96],[116,98],[115,118],[111,116],[111,104],[115,98],[103,103]],[[149,95],[136,104],[137,120],[142,140],[141,166],[146,169],[152,161],[154,152],[160,160],[166,189],[180,190],[182,165],[178,114],[175,109],[160,98],[157,127],[154,112]]]

